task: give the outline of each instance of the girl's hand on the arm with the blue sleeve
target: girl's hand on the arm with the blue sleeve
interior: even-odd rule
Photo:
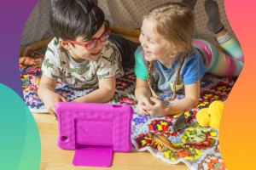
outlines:
[[[165,116],[166,102],[154,97],[151,97],[150,100],[154,102],[154,105],[148,110],[150,116]]]

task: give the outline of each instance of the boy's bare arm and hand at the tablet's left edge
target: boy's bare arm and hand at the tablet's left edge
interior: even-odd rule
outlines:
[[[38,87],[38,97],[44,102],[49,113],[54,114],[55,105],[60,101],[66,101],[60,94],[55,94],[56,79],[49,78],[44,74]]]

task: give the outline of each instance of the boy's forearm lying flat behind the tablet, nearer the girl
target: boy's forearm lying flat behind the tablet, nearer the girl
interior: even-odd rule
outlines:
[[[99,80],[99,88],[90,94],[74,99],[75,102],[105,103],[113,99],[115,91],[115,77],[102,78]]]

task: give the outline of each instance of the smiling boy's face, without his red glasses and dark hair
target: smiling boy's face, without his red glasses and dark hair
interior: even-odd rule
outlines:
[[[105,32],[105,26],[103,24],[100,30],[97,31],[96,34],[93,37],[91,37],[91,39],[101,37],[104,32]],[[99,56],[102,54],[102,49],[107,43],[107,41],[105,42],[97,41],[96,47],[88,50],[84,46],[80,46],[77,44],[72,45],[71,42],[66,42],[61,39],[59,40],[59,42],[63,48],[67,49],[68,53],[72,56],[72,58],[79,63],[83,62],[84,60],[94,61],[98,59]],[[75,42],[83,42],[83,37],[77,37]]]

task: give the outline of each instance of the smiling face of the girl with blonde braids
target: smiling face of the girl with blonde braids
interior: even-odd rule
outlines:
[[[154,21],[144,19],[139,40],[144,50],[145,59],[162,60],[166,57],[168,43],[156,31]]]

